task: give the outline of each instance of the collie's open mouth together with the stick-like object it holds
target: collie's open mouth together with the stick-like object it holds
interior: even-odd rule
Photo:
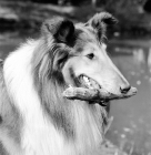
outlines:
[[[127,94],[113,94],[103,89],[95,80],[81,74],[76,78],[76,86],[69,86],[63,96],[70,100],[82,100],[89,103],[99,103],[105,106],[109,101],[125,99],[137,94],[137,89],[131,87]]]

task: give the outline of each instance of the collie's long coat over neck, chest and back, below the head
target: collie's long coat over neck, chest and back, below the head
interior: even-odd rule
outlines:
[[[56,63],[62,54],[68,59],[72,42],[67,48],[43,33],[12,52],[0,68],[0,141],[9,155],[99,155],[107,112],[99,104],[62,96],[63,66]]]

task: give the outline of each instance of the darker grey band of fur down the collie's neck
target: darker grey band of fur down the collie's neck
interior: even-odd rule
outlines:
[[[38,46],[39,52],[37,53],[37,50],[34,51],[32,60],[34,85],[39,96],[41,96],[42,108],[47,112],[50,121],[52,121],[59,131],[64,132],[67,137],[71,138],[74,132],[68,118],[69,113],[67,115],[68,106],[70,105],[68,105],[68,102],[62,97],[66,83],[60,68],[57,66],[58,64],[54,64],[56,59],[59,56],[58,52],[61,52],[64,48],[61,46],[61,50],[60,46],[56,45],[56,48],[50,48],[52,49],[50,51],[46,49],[48,44],[44,40],[42,40],[41,43],[42,44]]]

